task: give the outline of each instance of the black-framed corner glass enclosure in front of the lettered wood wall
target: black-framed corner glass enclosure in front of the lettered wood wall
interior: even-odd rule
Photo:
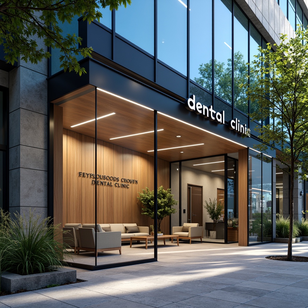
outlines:
[[[103,268],[153,261],[153,241],[148,251],[145,238],[130,245],[155,225],[137,199],[154,189],[154,111],[94,87],[61,106],[63,225],[82,224],[70,262]]]

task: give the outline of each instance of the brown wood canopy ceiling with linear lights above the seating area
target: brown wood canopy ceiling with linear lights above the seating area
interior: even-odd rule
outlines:
[[[81,92],[83,93],[83,92]],[[74,97],[61,104],[63,107],[63,127],[81,134],[95,137],[95,121],[71,128],[72,125],[95,118],[95,91]],[[110,138],[132,135],[153,130],[154,113],[144,107],[125,101],[110,94],[97,91],[97,116],[107,115],[97,121],[97,138],[137,152],[154,149],[154,133],[110,140]],[[229,140],[214,136],[178,120],[158,114],[158,149],[183,147],[192,144],[199,146],[158,151],[158,157],[167,161],[185,160],[196,157],[237,152],[243,148]],[[180,138],[176,136],[180,135]],[[184,153],[180,153],[184,152]]]

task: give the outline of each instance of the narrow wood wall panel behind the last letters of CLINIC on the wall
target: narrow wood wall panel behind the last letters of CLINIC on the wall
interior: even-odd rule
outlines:
[[[123,178],[132,179],[132,150],[123,148]],[[137,180],[139,178],[136,178]],[[134,185],[133,187],[136,187]],[[132,189],[123,189],[123,217],[128,223],[133,223],[132,218]]]

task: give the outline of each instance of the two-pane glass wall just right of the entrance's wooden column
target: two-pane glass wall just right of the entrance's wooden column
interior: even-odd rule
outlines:
[[[272,158],[249,150],[249,244],[272,240]]]

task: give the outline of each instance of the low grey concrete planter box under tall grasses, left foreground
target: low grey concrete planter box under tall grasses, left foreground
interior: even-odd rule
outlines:
[[[62,285],[66,282],[76,282],[76,270],[60,268],[55,272],[18,275],[3,272],[1,277],[1,290],[16,292],[18,290],[38,290],[48,285]]]

